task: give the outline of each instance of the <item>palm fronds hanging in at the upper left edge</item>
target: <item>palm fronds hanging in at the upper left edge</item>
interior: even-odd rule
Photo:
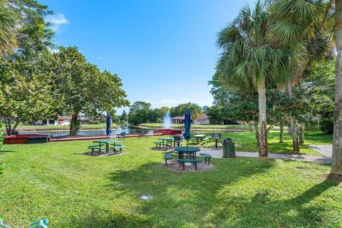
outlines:
[[[16,17],[6,7],[6,1],[0,1],[0,55],[16,48]]]

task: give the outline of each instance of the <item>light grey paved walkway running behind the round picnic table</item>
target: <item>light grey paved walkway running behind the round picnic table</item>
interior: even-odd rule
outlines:
[[[201,148],[200,152],[207,153],[209,155],[212,155],[212,157],[216,157],[216,158],[223,157],[222,149]],[[237,157],[259,157],[259,154],[257,152],[236,152],[236,155]],[[284,155],[284,154],[269,153],[269,158],[297,160],[297,161],[304,161],[304,162],[324,162],[324,163],[331,162],[331,157],[326,157],[326,156],[318,157],[318,156],[309,156],[309,155]]]

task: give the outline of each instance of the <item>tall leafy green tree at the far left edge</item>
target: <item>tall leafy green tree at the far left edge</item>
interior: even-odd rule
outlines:
[[[6,10],[13,11],[19,23],[17,48],[1,56],[0,64],[0,115],[4,116],[7,133],[11,134],[21,120],[56,116],[58,104],[42,66],[53,48],[51,24],[45,21],[51,11],[33,0],[1,1],[4,2],[8,3]]]

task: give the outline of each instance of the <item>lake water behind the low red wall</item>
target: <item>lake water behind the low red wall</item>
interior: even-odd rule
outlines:
[[[120,134],[120,133],[140,133],[141,131],[145,131],[146,133],[149,130],[153,129],[136,129],[136,128],[119,128],[119,129],[112,129],[112,135]],[[20,134],[46,134],[51,135],[52,137],[64,136],[69,135],[69,131],[56,131],[56,130],[37,130],[37,131],[23,131],[19,132]],[[105,130],[80,130],[77,135],[105,135]]]

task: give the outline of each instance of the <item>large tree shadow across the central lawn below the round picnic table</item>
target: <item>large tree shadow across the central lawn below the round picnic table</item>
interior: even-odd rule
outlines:
[[[120,202],[118,212],[82,217],[74,227],[205,227],[205,214],[221,203],[217,190],[246,177],[267,172],[274,160],[213,159],[207,172],[179,172],[162,162],[149,162],[110,172],[108,191]],[[152,195],[142,201],[140,196]],[[133,209],[132,209],[133,207]],[[97,212],[94,212],[96,214]]]

